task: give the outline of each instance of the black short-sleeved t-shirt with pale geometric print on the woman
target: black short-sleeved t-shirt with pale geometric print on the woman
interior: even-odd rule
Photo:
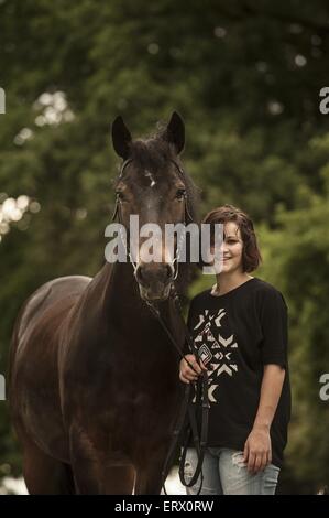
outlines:
[[[273,464],[281,467],[290,418],[287,306],[271,284],[252,278],[215,296],[206,290],[191,301],[188,327],[195,350],[208,367],[208,446],[243,450],[257,412],[263,369],[286,369],[271,427]]]

